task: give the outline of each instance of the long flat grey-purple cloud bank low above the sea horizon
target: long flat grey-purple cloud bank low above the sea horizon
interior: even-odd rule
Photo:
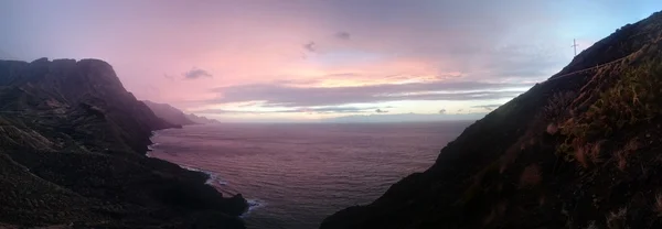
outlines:
[[[265,107],[341,106],[402,100],[489,100],[512,98],[531,84],[434,81],[356,87],[295,87],[278,84],[253,84],[212,89],[217,98],[203,103],[266,101]],[[511,88],[511,90],[504,90]],[[524,88],[524,89],[523,89]]]

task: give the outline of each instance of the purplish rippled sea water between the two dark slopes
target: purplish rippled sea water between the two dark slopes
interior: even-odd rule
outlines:
[[[369,204],[414,172],[470,122],[227,123],[159,131],[150,156],[212,175],[207,184],[252,203],[250,229],[313,229]]]

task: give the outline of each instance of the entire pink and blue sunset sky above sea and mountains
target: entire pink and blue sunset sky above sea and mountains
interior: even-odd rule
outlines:
[[[659,0],[2,0],[0,58],[99,58],[220,120],[485,113]]]

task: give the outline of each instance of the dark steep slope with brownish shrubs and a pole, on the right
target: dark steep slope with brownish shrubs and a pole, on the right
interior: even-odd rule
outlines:
[[[321,228],[662,228],[661,42],[621,28]]]

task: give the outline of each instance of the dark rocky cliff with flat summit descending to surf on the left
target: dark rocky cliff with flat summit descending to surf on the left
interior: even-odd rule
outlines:
[[[0,226],[244,228],[241,195],[145,156],[173,127],[105,62],[0,61]]]

